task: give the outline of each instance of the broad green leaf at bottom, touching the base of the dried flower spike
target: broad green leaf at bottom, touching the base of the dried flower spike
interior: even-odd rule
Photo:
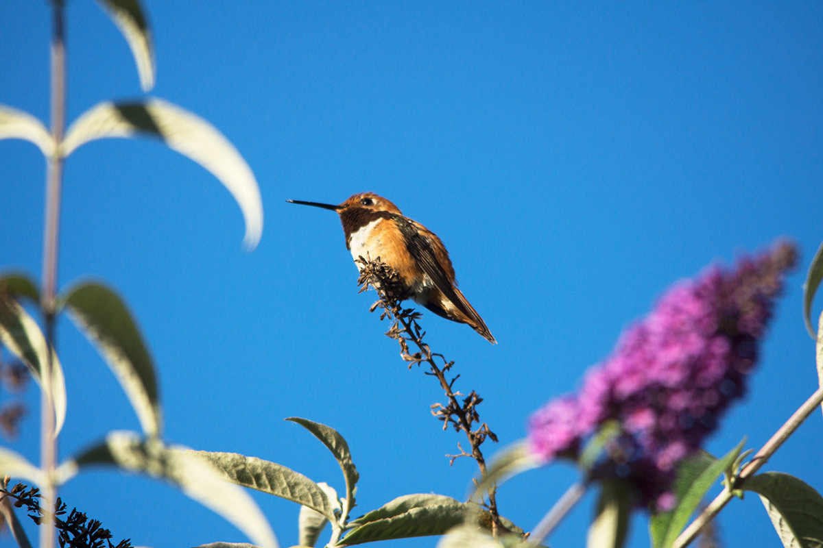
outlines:
[[[476,510],[448,496],[405,495],[352,521],[356,527],[341,544],[443,535],[471,511]]]

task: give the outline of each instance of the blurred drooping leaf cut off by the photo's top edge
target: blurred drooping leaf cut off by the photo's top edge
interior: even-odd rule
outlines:
[[[140,86],[151,90],[155,82],[154,48],[151,45],[151,29],[138,0],[98,0],[100,7],[117,25],[132,50]]]

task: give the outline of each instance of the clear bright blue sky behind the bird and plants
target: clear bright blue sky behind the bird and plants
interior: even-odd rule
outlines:
[[[105,279],[151,344],[168,440],[289,466],[342,489],[337,464],[300,426],[333,426],[360,471],[355,514],[399,495],[463,498],[475,463],[444,454],[435,382],[408,371],[358,294],[334,214],[360,191],[393,200],[448,246],[463,292],[500,344],[425,313],[438,352],[477,390],[501,444],[579,385],[626,325],[677,279],[777,237],[802,266],[788,279],[745,402],[708,449],[757,448],[816,387],[802,325],[805,269],[823,239],[823,7],[815,2],[144,2],[151,94],[207,118],[238,148],[263,196],[256,251],[209,173],[153,141],[104,140],[67,160],[59,278]],[[46,2],[0,8],[0,102],[48,119]],[[68,116],[142,96],[119,32],[94,2],[68,2]],[[44,161],[0,142],[2,265],[40,274]],[[816,308],[820,311],[820,306]],[[139,425],[114,376],[59,324],[68,458]],[[37,458],[32,416],[11,443]],[[815,414],[768,469],[823,489]],[[491,454],[491,444],[484,446]],[[500,490],[533,527],[576,479],[568,465]],[[61,492],[136,545],[243,541],[176,490],[89,472]],[[255,495],[283,546],[297,507]],[[588,497],[551,538],[581,546]],[[745,524],[745,527],[737,527]],[[725,546],[779,546],[760,501],[719,520]],[[647,546],[645,518],[630,546]],[[435,539],[392,546],[435,546]],[[0,537],[0,544],[9,542]],[[388,546],[388,544],[386,545]]]

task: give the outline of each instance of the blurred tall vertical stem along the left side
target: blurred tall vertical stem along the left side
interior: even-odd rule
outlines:
[[[43,293],[40,307],[43,310],[46,337],[46,359],[43,364],[43,394],[40,406],[40,463],[45,473],[43,487],[47,504],[57,500],[54,486],[54,468],[57,464],[57,438],[54,435],[54,405],[51,390],[53,372],[55,296],[57,294],[58,236],[60,225],[60,194],[63,183],[63,159],[59,145],[63,141],[66,123],[66,46],[63,21],[63,2],[53,0],[53,30],[51,42],[51,131],[54,153],[48,159],[46,173],[45,227],[43,234]],[[54,528],[51,524],[41,529],[40,548],[54,546]]]

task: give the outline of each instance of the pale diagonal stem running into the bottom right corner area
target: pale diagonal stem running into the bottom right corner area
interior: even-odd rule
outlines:
[[[742,472],[740,472],[734,481],[732,488],[737,489],[737,487],[746,481],[746,478],[754,476],[755,472],[760,470],[760,467],[762,467],[780,445],[788,439],[788,436],[792,435],[793,432],[797,430],[797,427],[800,426],[821,403],[823,403],[823,387],[817,389],[814,394],[811,394],[811,397],[809,397],[800,408],[797,408],[797,411],[793,413],[792,417],[789,417],[788,421],[786,421],[783,426],[780,426],[778,431],[774,432],[771,439],[760,448],[760,451],[758,451],[754,458],[743,468]],[[732,500],[732,496],[734,496],[732,495],[732,489],[723,490],[723,492],[695,518],[695,521],[690,523],[685,531],[681,532],[677,540],[674,541],[672,548],[683,548],[691,541],[694,541],[698,533],[700,533],[700,528],[706,523],[709,523],[709,521],[723,509],[723,506],[728,504],[729,500]]]

